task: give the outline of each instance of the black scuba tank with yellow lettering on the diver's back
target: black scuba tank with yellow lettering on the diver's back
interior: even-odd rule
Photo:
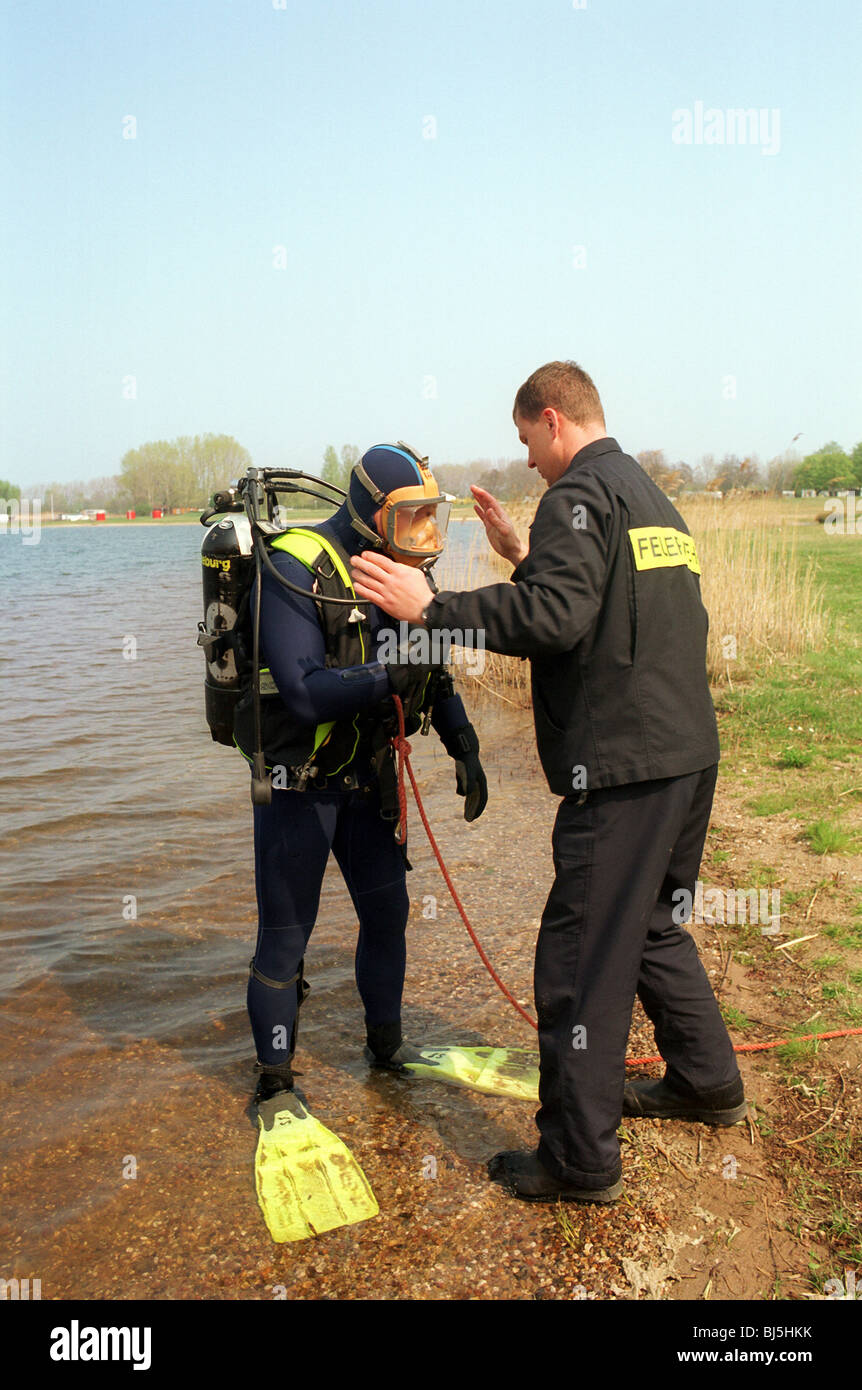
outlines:
[[[228,516],[224,510],[204,513],[200,520],[207,527],[200,546],[203,621],[197,624],[197,645],[206,657],[206,716],[213,741],[232,748],[234,710],[250,659],[242,634],[254,574],[252,527],[245,509]]]

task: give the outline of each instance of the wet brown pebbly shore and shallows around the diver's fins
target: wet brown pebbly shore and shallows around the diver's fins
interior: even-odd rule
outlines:
[[[414,763],[480,938],[516,997],[531,1005],[556,802],[537,767],[530,717],[509,710],[501,717],[491,708],[482,723],[491,796],[474,826],[460,819],[452,763],[432,738],[414,737]],[[532,1047],[532,1030],[496,991],[448,898],[413,805],[410,858],[406,1036]],[[43,1298],[93,1300],[273,1298],[278,1284],[289,1298],[602,1291],[591,1262],[562,1237],[553,1209],[514,1202],[487,1179],[484,1163],[499,1148],[532,1145],[531,1104],[368,1072],[353,981],[356,924],[338,870],[328,873],[332,906],[307,956],[313,988],[299,1034],[299,1087],[364,1168],[380,1216],[311,1241],[270,1240],[253,1184],[253,1048],[241,973],[225,1009],[213,1009],[200,983],[179,976],[184,1015],[196,1013],[196,1022],[189,1017],[175,1040],[125,1041],[100,1037],[99,1006],[88,1002],[85,983],[64,988],[42,977],[17,999],[26,1034],[13,1027],[3,1037],[3,1076],[14,1076],[0,1091],[7,1150],[0,1247],[10,1276],[40,1279]],[[437,920],[423,917],[431,894]],[[216,916],[232,919],[241,902],[250,944],[253,881],[245,866],[220,877]],[[153,954],[178,938],[193,944],[218,926],[200,909],[199,894],[178,897],[175,910],[150,924]],[[128,991],[133,1019],[133,973]],[[197,1065],[189,1061],[189,1033]],[[68,1045],[58,1048],[57,1038]],[[210,1042],[210,1065],[200,1065]],[[39,1055],[42,1045],[53,1054],[50,1069],[28,1074],[25,1054]],[[596,1236],[623,1227],[634,1251],[651,1218],[620,1208],[589,1222]],[[599,1272],[610,1266],[601,1245],[595,1241]]]

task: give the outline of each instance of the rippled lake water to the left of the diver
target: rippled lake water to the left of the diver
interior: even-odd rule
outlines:
[[[474,532],[453,524],[455,556]],[[241,1002],[249,783],[204,720],[202,537],[174,524],[0,538],[0,1001],[19,1037],[26,987],[47,972],[103,1037],[182,1036],[192,1055],[202,1020]],[[50,1068],[81,1045],[74,1017],[70,1030],[57,1020],[21,1065]],[[217,1044],[206,1036],[207,1065]]]

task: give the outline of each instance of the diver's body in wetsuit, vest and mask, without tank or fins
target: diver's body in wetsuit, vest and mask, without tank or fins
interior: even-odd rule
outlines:
[[[371,548],[427,571],[442,552],[449,505],[425,459],[403,443],[377,445],[353,467],[348,495],[331,517],[270,538],[270,559],[293,588],[268,567],[260,594],[257,582],[252,588],[249,610],[260,603],[259,728],[273,783],[268,803],[254,805],[259,929],[247,1008],[257,1105],[293,1088],[298,1013],[309,988],[303,958],[330,852],[359,917],[366,1056],[391,1070],[418,1058],[400,1024],[409,865],[396,840],[392,695],[402,701],[406,733],[420,723],[427,733],[430,724],[456,760],[466,820],[481,815],[488,790],[478,738],[445,669],[416,664],[403,645],[398,660],[377,659],[389,620],[356,598],[349,557]],[[253,706],[246,688],[234,737],[250,763]]]

